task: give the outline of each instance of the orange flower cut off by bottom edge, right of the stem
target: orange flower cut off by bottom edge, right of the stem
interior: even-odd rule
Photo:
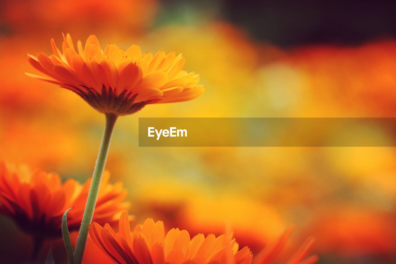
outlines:
[[[199,234],[190,239],[186,230],[173,228],[165,235],[162,221],[147,219],[130,230],[128,214],[120,217],[118,232],[109,224],[89,227],[89,237],[115,263],[241,263],[251,262],[247,247],[238,251],[231,235],[207,237]]]

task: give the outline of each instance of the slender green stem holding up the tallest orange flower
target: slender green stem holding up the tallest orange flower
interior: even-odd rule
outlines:
[[[102,142],[100,145],[98,157],[96,160],[95,169],[93,170],[91,187],[89,188],[87,203],[85,205],[84,215],[82,217],[80,232],[78,233],[78,239],[76,249],[74,251],[74,263],[80,264],[84,255],[85,245],[88,238],[88,227],[92,222],[93,211],[95,210],[96,199],[98,196],[100,182],[102,180],[103,170],[105,170],[105,164],[107,159],[107,153],[109,152],[111,134],[116,123],[117,116],[114,114],[106,114],[106,126],[103,132]]]

